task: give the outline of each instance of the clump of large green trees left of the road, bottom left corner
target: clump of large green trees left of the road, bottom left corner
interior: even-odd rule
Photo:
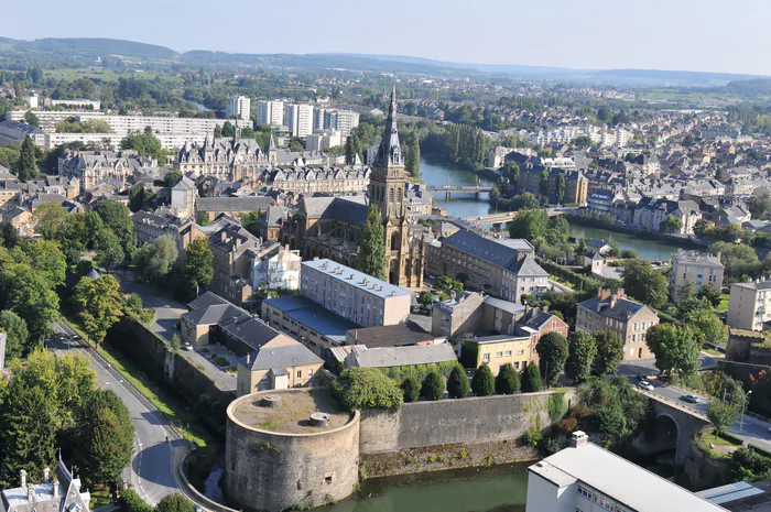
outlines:
[[[69,448],[65,456],[87,486],[115,484],[131,464],[134,428],[123,402],[97,388],[88,358],[34,350],[25,364],[11,362],[11,375],[0,385],[3,484],[18,486],[21,468],[41,481],[56,446]]]

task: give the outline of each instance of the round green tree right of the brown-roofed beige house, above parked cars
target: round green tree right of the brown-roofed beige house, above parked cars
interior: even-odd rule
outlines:
[[[691,326],[659,324],[648,329],[645,344],[655,356],[655,366],[663,373],[689,375],[699,368],[698,337]]]

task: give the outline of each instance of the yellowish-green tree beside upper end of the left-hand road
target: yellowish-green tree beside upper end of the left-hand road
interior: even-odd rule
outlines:
[[[83,327],[98,347],[123,315],[120,285],[109,274],[97,280],[82,277],[73,292],[73,304]]]

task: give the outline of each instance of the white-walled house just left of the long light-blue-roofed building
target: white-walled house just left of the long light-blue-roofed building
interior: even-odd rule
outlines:
[[[291,251],[280,243],[271,243],[265,249],[250,249],[252,288],[267,286],[268,290],[300,290],[300,269],[303,259],[300,251]]]

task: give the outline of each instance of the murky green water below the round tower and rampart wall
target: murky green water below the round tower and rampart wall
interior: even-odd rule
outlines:
[[[319,512],[524,512],[528,465],[437,471],[365,482]],[[404,482],[409,482],[404,484]],[[363,497],[363,498],[362,498]]]

